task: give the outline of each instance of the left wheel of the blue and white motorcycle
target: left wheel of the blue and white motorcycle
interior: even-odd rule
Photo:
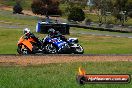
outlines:
[[[46,49],[46,53],[48,53],[48,54],[57,54],[57,52],[58,52],[57,47],[53,44],[47,44],[45,46],[45,49]]]

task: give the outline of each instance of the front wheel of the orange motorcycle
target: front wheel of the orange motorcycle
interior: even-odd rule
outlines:
[[[22,55],[30,54],[29,49],[25,45],[18,45],[17,52]]]

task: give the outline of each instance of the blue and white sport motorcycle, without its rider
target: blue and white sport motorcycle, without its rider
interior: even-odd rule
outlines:
[[[83,47],[78,44],[77,38],[69,38],[67,41],[59,37],[51,38],[46,36],[43,40],[45,53],[47,54],[83,54]]]

